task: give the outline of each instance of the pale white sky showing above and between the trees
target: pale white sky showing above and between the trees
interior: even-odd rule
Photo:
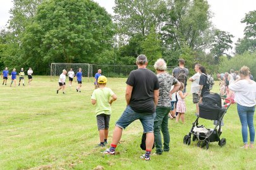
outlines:
[[[114,14],[114,0],[94,0],[103,6],[107,12]],[[228,31],[235,36],[233,42],[243,38],[245,24],[241,20],[245,13],[256,10],[256,0],[207,0],[210,4],[210,11],[214,14],[212,23],[222,31]],[[4,28],[9,20],[9,9],[13,3],[11,0],[0,0],[0,28]]]

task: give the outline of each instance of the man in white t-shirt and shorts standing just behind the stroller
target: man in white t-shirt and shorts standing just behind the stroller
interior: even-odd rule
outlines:
[[[193,103],[195,104],[195,107],[197,109],[197,113],[196,113],[197,116],[199,115],[198,103],[199,103],[199,99],[200,99],[200,96],[198,95],[198,92],[200,90],[199,81],[200,81],[200,76],[201,76],[201,74],[199,72],[200,66],[201,66],[200,64],[195,64],[195,72],[197,72],[197,73],[188,79],[188,81],[192,81],[191,93],[193,94]]]

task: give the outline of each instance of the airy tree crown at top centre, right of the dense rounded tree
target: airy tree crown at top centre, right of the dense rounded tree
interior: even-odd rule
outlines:
[[[162,0],[115,0],[114,20],[121,35],[147,35],[152,26],[161,27],[166,6]]]

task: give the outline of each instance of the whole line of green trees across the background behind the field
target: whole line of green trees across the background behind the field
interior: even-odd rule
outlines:
[[[90,0],[13,3],[0,32],[1,68],[33,67],[35,74],[48,74],[52,62],[134,65],[145,54],[150,65],[160,57],[168,65],[183,58],[191,72],[200,63],[213,73],[231,67],[223,63],[236,57],[227,54],[233,35],[212,25],[205,0],[115,0],[114,16]],[[245,37],[235,52],[243,60],[255,52],[256,11],[241,23],[247,25]]]

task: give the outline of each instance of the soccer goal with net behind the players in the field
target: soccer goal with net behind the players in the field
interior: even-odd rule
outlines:
[[[65,69],[67,72],[70,69],[78,72],[78,69],[81,68],[83,72],[83,77],[87,77],[87,82],[89,81],[89,77],[92,77],[92,65],[91,64],[80,64],[80,63],[52,63],[51,64],[51,81],[55,80],[59,75],[61,75],[62,71]]]

